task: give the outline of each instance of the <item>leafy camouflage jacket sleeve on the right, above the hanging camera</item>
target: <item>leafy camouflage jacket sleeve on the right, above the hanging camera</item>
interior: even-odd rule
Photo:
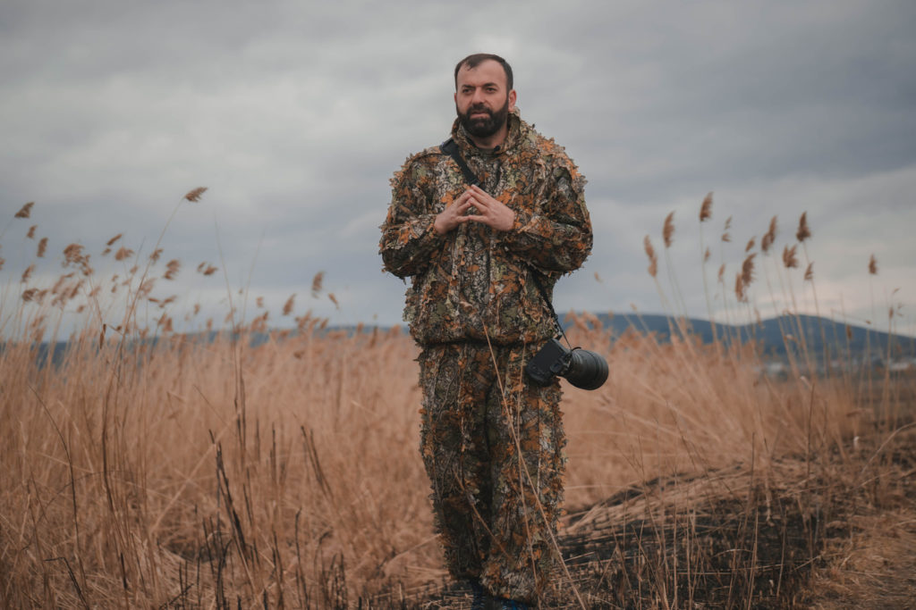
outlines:
[[[592,251],[592,221],[585,208],[585,178],[572,162],[555,166],[540,213],[517,210],[503,244],[543,272],[567,273]]]

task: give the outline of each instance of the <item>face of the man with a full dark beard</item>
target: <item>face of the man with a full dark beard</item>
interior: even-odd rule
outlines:
[[[489,137],[506,124],[516,92],[506,90],[506,71],[499,62],[486,59],[476,68],[462,66],[455,84],[455,110],[468,134]]]

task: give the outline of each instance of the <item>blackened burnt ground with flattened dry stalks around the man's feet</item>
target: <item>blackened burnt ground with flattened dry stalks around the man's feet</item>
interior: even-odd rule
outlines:
[[[809,585],[829,589],[824,574],[848,559],[849,540],[874,534],[867,519],[916,517],[914,472],[910,427],[824,461],[786,458],[760,474],[736,466],[628,488],[565,520],[566,570],[541,607],[821,607]],[[467,608],[470,595],[453,583],[392,583],[356,602]]]

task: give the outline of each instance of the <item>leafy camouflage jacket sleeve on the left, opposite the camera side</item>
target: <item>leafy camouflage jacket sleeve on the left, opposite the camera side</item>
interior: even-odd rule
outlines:
[[[425,271],[445,243],[433,229],[436,211],[426,192],[429,182],[429,170],[416,160],[409,160],[391,180],[391,205],[378,251],[385,270],[398,277]]]

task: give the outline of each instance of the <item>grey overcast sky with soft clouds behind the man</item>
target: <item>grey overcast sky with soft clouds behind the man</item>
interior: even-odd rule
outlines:
[[[73,241],[97,271],[117,273],[124,263],[101,256],[105,241],[124,233],[143,259],[181,196],[208,187],[180,205],[161,244],[183,262],[156,289],[180,294],[176,317],[195,302],[225,313],[228,279],[235,294],[250,287],[249,317],[263,296],[278,325],[291,324],[279,309],[293,293],[294,315],[398,323],[404,284],[377,254],[388,179],[447,137],[454,64],[487,51],[512,64],[523,118],[589,179],[594,251],[558,284],[558,310],[708,316],[698,213],[712,191],[702,239],[717,317],[719,265],[734,307],[745,245],[773,216],[775,254],[758,254],[751,307],[769,317],[790,305],[771,303],[769,278],[814,312],[802,249],[796,273],[776,264],[807,212],[821,313],[886,328],[889,305],[902,305],[897,324],[911,332],[913,32],[911,0],[4,0],[0,282],[21,292],[41,237],[49,254],[33,282],[60,273]],[[27,201],[31,218],[9,221]],[[646,235],[664,297],[646,273]],[[203,277],[200,262],[221,271]]]

